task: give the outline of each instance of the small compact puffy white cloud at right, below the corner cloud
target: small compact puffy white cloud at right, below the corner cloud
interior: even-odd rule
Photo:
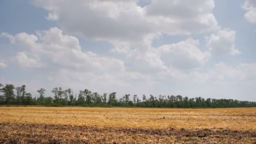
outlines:
[[[209,51],[213,54],[237,55],[241,52],[235,48],[236,32],[230,29],[219,30],[216,34],[206,37]]]

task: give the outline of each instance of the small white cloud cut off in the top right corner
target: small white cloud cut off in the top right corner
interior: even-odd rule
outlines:
[[[246,11],[244,17],[251,23],[256,23],[256,1],[255,0],[245,0],[243,4],[243,9]]]

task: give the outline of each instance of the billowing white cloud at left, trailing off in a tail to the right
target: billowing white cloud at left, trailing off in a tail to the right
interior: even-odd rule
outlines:
[[[37,35],[19,33],[10,35],[10,39],[16,44],[23,45],[27,53],[37,59],[48,61],[48,65],[55,64],[59,67],[69,67],[83,70],[116,70],[123,71],[123,62],[114,58],[99,57],[96,53],[82,52],[76,37],[63,35],[57,27],[46,31],[37,31]],[[35,59],[28,58],[27,54],[20,52],[16,56],[19,64],[35,67],[38,63]]]

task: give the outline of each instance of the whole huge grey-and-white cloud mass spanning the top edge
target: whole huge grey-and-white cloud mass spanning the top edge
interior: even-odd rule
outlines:
[[[65,30],[109,41],[140,41],[150,34],[189,34],[218,29],[213,0],[152,0],[141,8],[137,0],[34,0]],[[70,22],[72,21],[72,22]]]

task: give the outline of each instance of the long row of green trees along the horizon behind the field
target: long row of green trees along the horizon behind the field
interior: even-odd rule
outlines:
[[[43,105],[43,106],[84,106],[84,107],[170,107],[170,108],[225,108],[225,107],[256,107],[253,101],[238,101],[233,99],[204,99],[202,97],[188,98],[187,96],[149,95],[142,96],[125,94],[117,99],[117,93],[91,92],[88,89],[79,91],[74,95],[73,91],[53,88],[53,96],[45,96],[45,89],[37,90],[39,96],[32,97],[27,93],[26,85],[14,87],[12,84],[0,83],[1,105]]]

